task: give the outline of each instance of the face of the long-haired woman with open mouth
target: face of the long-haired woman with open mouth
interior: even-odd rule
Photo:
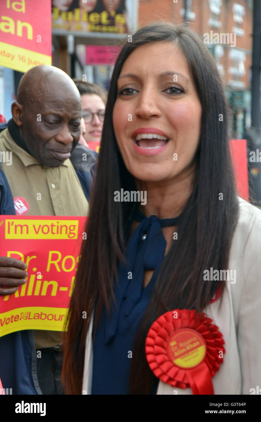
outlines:
[[[129,55],[118,78],[113,127],[126,168],[136,179],[165,181],[192,169],[201,116],[178,46],[155,42]]]

